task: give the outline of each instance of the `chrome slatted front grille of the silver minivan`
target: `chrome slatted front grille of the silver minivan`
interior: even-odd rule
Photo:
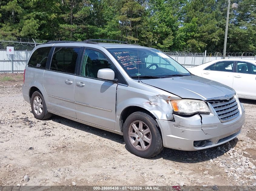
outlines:
[[[238,103],[234,97],[229,100],[208,101],[216,111],[222,123],[231,121],[239,116]]]

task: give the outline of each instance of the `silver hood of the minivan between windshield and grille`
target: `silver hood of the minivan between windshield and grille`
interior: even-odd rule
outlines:
[[[189,99],[207,100],[235,93],[232,88],[224,84],[195,75],[143,79],[141,82]]]

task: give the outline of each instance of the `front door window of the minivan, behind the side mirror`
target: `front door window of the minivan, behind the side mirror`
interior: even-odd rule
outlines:
[[[114,70],[108,59],[98,51],[86,49],[81,65],[82,76],[97,78],[98,70],[110,68]]]

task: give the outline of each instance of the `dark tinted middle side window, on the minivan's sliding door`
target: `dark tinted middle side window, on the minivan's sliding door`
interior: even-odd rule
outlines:
[[[51,70],[75,74],[75,65],[80,48],[55,47]]]

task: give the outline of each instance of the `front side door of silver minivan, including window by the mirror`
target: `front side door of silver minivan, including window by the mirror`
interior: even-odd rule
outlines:
[[[86,49],[80,75],[75,78],[75,107],[77,119],[115,129],[117,83],[97,78],[99,69],[113,64],[100,51]]]

